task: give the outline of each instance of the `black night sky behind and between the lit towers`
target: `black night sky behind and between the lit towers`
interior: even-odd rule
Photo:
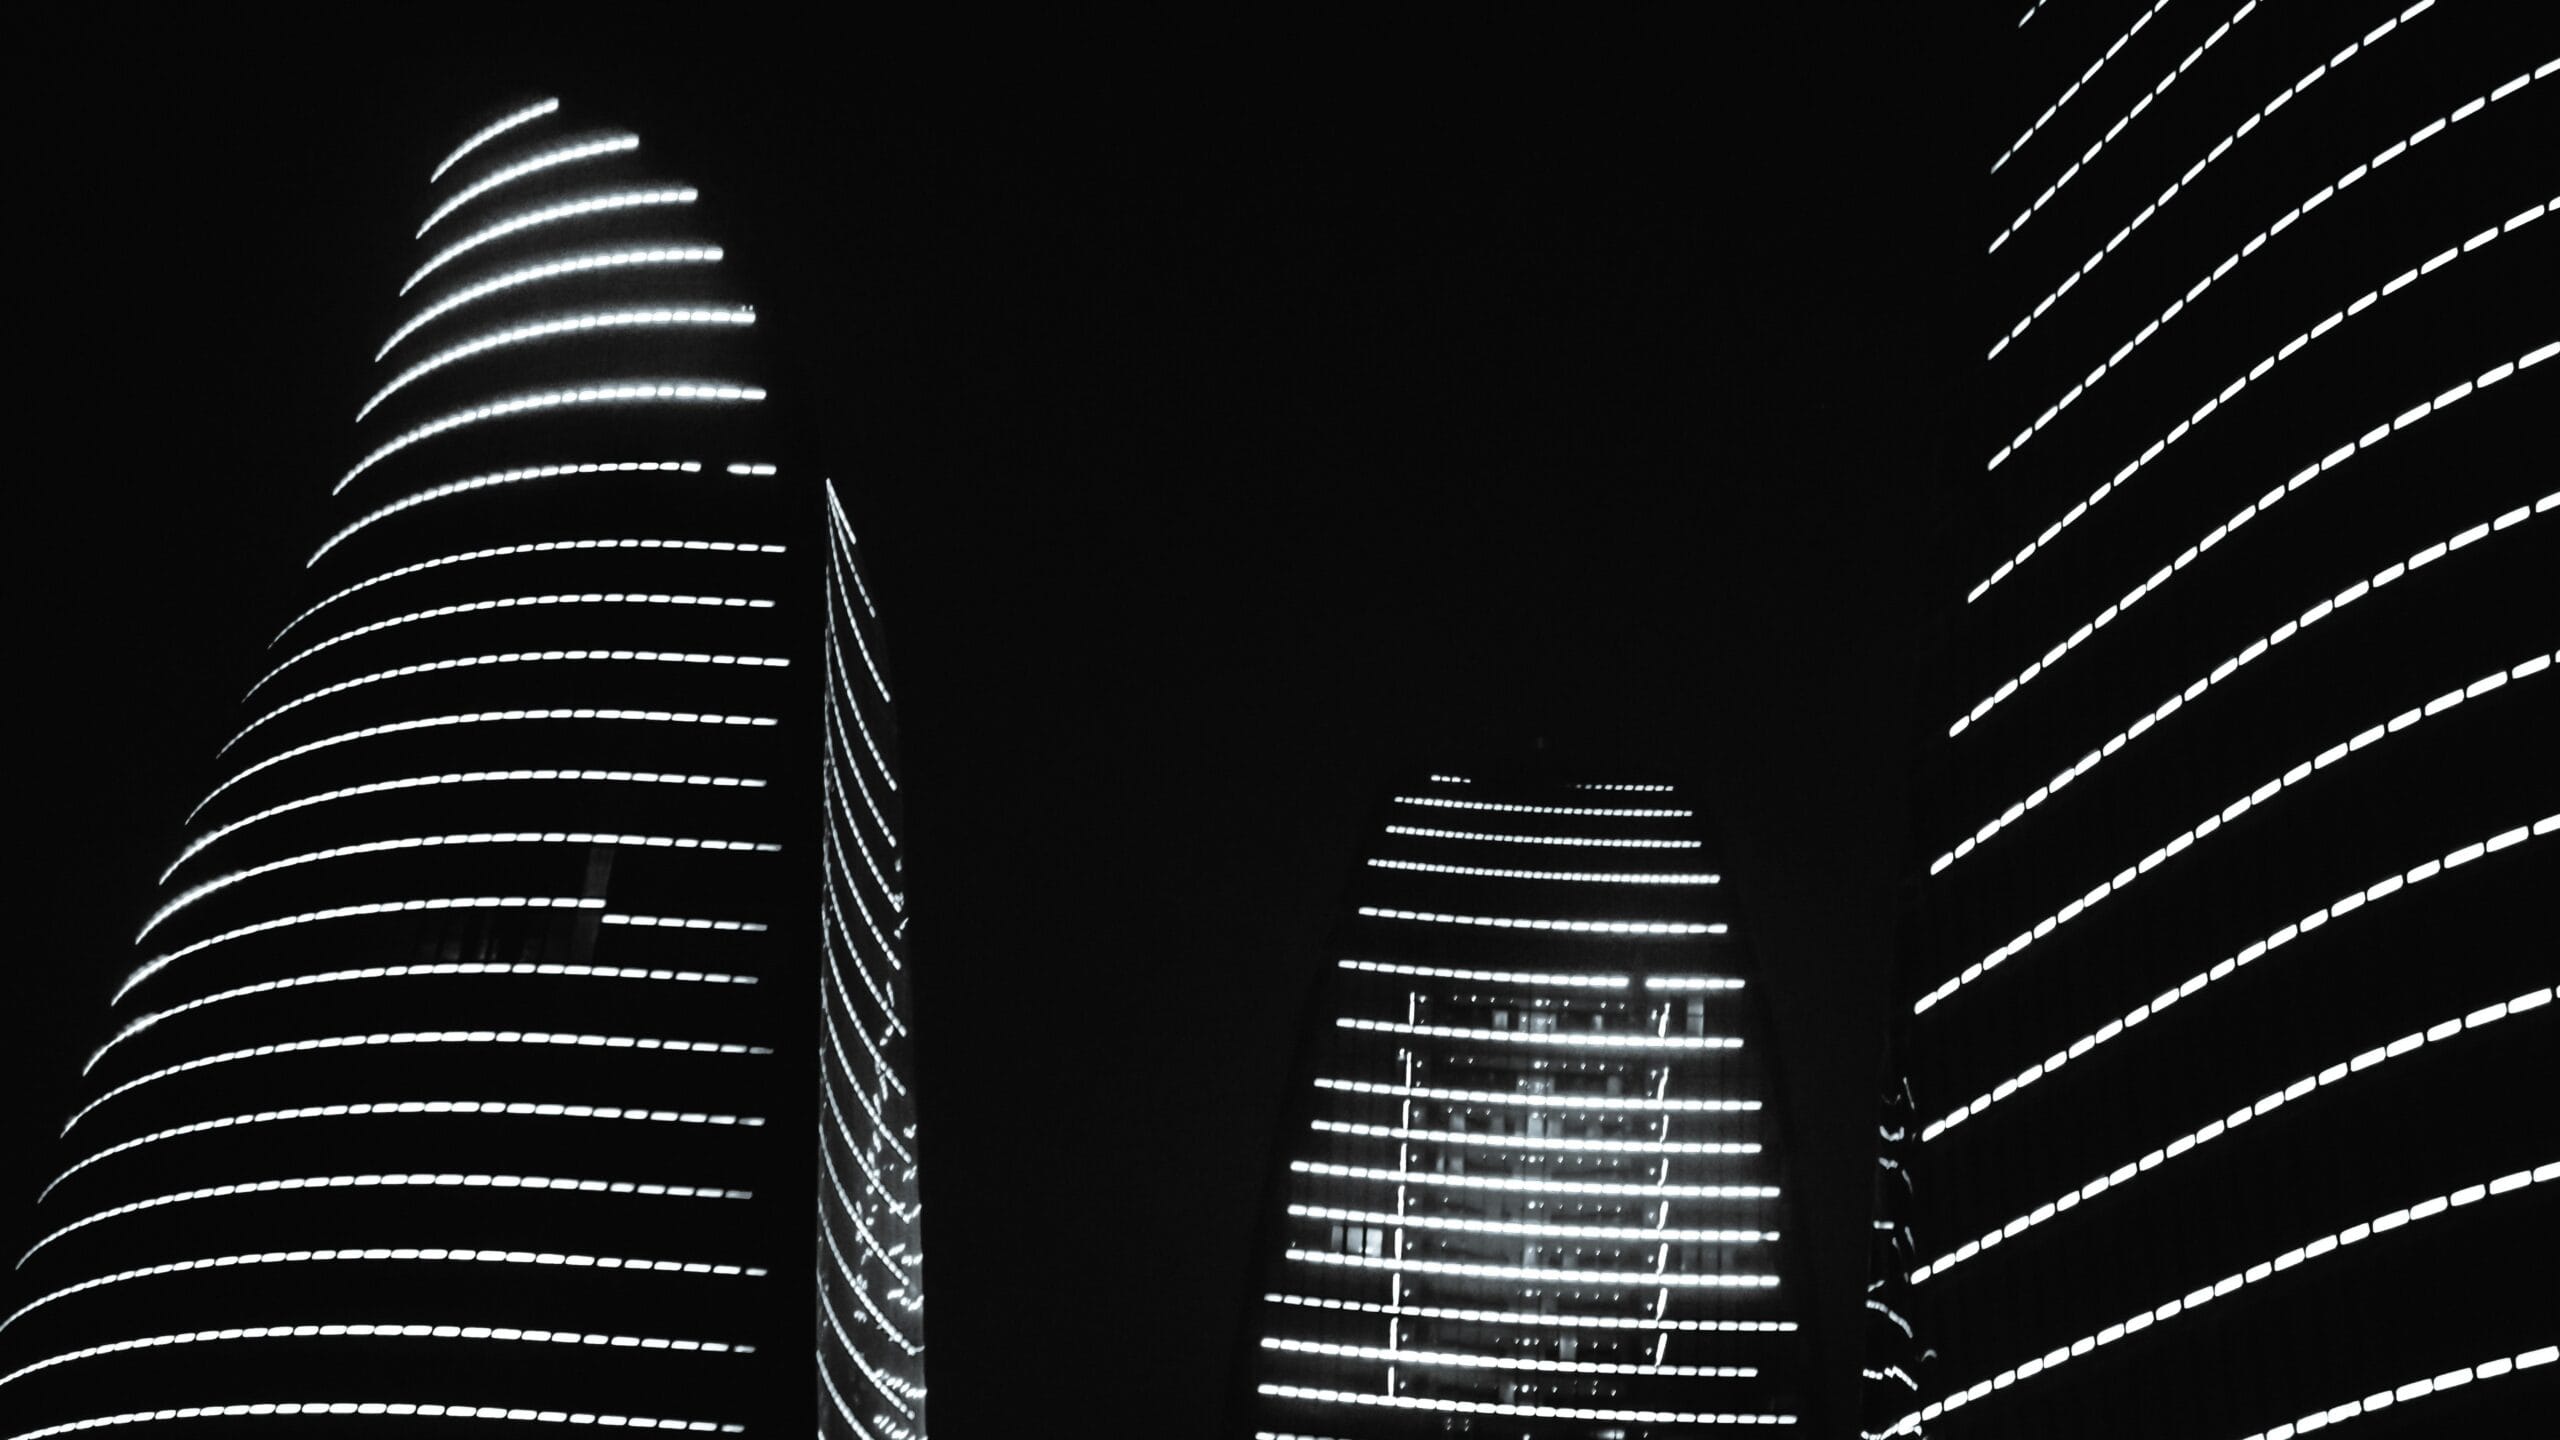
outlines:
[[[1930,415],[1969,348],[1946,220],[1981,169],[1907,10],[1249,82],[1280,56],[1242,36],[1152,74],[1101,36],[993,64],[673,23],[31,46],[8,1230],[289,615],[425,174],[556,92],[719,202],[760,379],[868,551],[934,1432],[1216,1420],[1372,807],[1536,735],[1713,810],[1848,1396]]]

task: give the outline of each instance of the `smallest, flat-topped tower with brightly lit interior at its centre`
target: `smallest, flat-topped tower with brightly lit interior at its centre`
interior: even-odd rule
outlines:
[[[1669,784],[1434,774],[1326,956],[1236,1435],[1792,1425],[1751,958]]]

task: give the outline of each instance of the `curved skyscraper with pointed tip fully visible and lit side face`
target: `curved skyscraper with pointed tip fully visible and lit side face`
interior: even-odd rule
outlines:
[[[72,1020],[100,1040],[59,1156],[13,1171],[8,1432],[919,1437],[852,530],[637,136],[543,100],[420,179],[356,441],[269,561],[307,605],[113,1015]]]

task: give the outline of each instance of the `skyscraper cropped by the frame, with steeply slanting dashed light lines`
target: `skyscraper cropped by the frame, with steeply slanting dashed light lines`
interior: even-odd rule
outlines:
[[[1866,1427],[2547,1432],[2560,13],[1979,54]]]

